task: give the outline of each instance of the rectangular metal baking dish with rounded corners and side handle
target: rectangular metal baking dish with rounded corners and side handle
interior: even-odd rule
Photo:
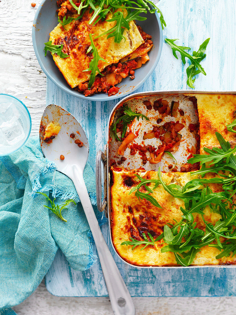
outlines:
[[[96,158],[96,193],[97,193],[97,205],[98,209],[100,212],[104,211],[105,216],[109,219],[109,231],[110,231],[110,240],[113,249],[115,250],[115,247],[112,242],[112,236],[111,236],[111,198],[110,198],[110,160],[114,159],[115,161],[118,160],[118,157],[114,157],[115,155],[115,150],[117,150],[117,146],[115,146],[115,141],[113,141],[111,134],[110,134],[110,126],[111,123],[113,122],[113,119],[119,110],[120,107],[123,106],[124,103],[128,103],[128,105],[132,107],[132,102],[135,102],[135,106],[138,109],[139,112],[140,108],[139,106],[143,104],[143,100],[152,100],[156,99],[157,97],[160,98],[160,96],[165,95],[165,99],[171,97],[179,98],[184,97],[186,95],[191,96],[194,94],[235,94],[236,92],[233,91],[214,91],[214,92],[209,92],[209,91],[190,91],[190,90],[177,90],[177,91],[150,91],[150,92],[141,92],[141,93],[135,93],[129,96],[126,96],[123,98],[119,103],[116,104],[116,106],[113,108],[109,120],[108,120],[108,127],[107,127],[107,144],[104,147],[104,151],[99,150],[97,153],[97,158]],[[137,106],[138,104],[138,106]],[[143,106],[143,105],[141,105]],[[188,108],[190,104],[186,103],[183,106],[185,106],[184,111],[187,113],[188,112],[188,118],[191,119],[191,122],[194,122],[193,115],[193,109]],[[153,110],[154,111],[154,110]],[[167,116],[168,117],[168,116]],[[170,117],[170,116],[169,116]],[[173,119],[174,117],[171,117]],[[167,118],[166,121],[168,121]],[[142,127],[143,131],[148,130],[148,127],[146,128],[144,124],[144,128]],[[149,128],[150,129],[150,128]],[[186,135],[188,135],[190,138],[188,138],[188,144],[194,145],[194,139],[191,138],[191,134],[188,134],[187,128],[185,128]],[[143,134],[140,135],[140,137],[143,137]],[[153,139],[149,139],[150,142],[148,144],[151,144]],[[155,140],[156,141],[156,140]],[[196,142],[196,141],[195,141]],[[186,142],[183,142],[182,147],[179,146],[179,150],[177,151],[177,162],[183,163],[184,156],[183,152],[186,152]],[[128,150],[126,150],[128,151]],[[126,152],[125,157],[127,158],[126,161],[122,164],[123,167],[128,167],[129,169],[135,169],[139,167],[144,167],[146,170],[157,170],[159,166],[161,166],[161,169],[164,170],[165,164],[170,162],[171,157],[166,157],[165,159],[162,159],[160,163],[158,164],[149,164],[147,163],[146,165],[141,165],[141,159],[137,160],[134,157],[131,157],[129,153]],[[186,158],[187,159],[187,158]],[[128,164],[129,163],[129,164]],[[128,164],[128,165],[127,165]],[[167,164],[168,165],[168,164]],[[104,179],[102,179],[102,173]],[[104,193],[102,194],[104,186]],[[103,197],[102,197],[103,195]],[[116,250],[115,250],[116,252]],[[133,266],[133,267],[138,267],[138,268],[199,268],[199,267],[235,267],[236,265],[204,265],[204,266],[136,266],[133,264],[130,264],[129,262],[125,261],[117,252],[116,254],[120,257],[122,261],[124,261],[126,264]]]

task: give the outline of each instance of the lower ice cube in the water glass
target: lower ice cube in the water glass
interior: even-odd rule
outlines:
[[[0,129],[3,134],[3,138],[11,146],[20,142],[25,137],[25,132],[19,120],[14,121],[10,126],[7,126],[7,127],[0,126]]]

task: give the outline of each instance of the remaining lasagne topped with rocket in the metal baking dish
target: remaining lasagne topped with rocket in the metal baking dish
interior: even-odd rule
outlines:
[[[183,98],[195,103],[199,116],[198,152],[194,153],[200,154],[190,155],[188,168],[176,163],[175,168],[160,172],[144,169],[148,163],[138,169],[130,169],[130,164],[124,167],[126,158],[122,163],[117,159],[110,162],[112,241],[121,258],[132,265],[236,264],[236,96],[192,94]],[[153,107],[155,101],[149,102]],[[164,118],[160,113],[157,117]],[[162,121],[164,129],[165,124]],[[157,127],[160,125],[159,120]],[[125,151],[132,152],[135,139]],[[156,135],[156,148],[158,140]],[[177,150],[171,152],[175,155]],[[147,162],[150,159],[153,157],[147,157]],[[198,167],[191,169],[191,162]]]

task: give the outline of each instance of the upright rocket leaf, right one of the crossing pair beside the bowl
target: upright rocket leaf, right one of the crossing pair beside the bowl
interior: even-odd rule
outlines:
[[[194,51],[193,52],[193,56],[197,58],[198,62],[202,61],[205,57],[206,54],[205,50],[206,50],[206,46],[209,43],[210,38],[207,38],[199,47],[198,51]],[[196,79],[196,75],[199,74],[201,71],[199,69],[196,68],[196,66],[192,63],[190,66],[188,66],[188,68],[186,69],[186,73],[187,73],[187,84],[190,88],[195,89],[194,88],[194,82]]]

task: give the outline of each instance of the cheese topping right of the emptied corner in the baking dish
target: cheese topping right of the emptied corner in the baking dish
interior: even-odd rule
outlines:
[[[192,96],[192,95],[191,95]],[[216,138],[219,132],[231,147],[236,145],[236,134],[226,125],[236,118],[236,96],[234,94],[196,94],[200,123],[200,154],[204,147],[220,147]]]

